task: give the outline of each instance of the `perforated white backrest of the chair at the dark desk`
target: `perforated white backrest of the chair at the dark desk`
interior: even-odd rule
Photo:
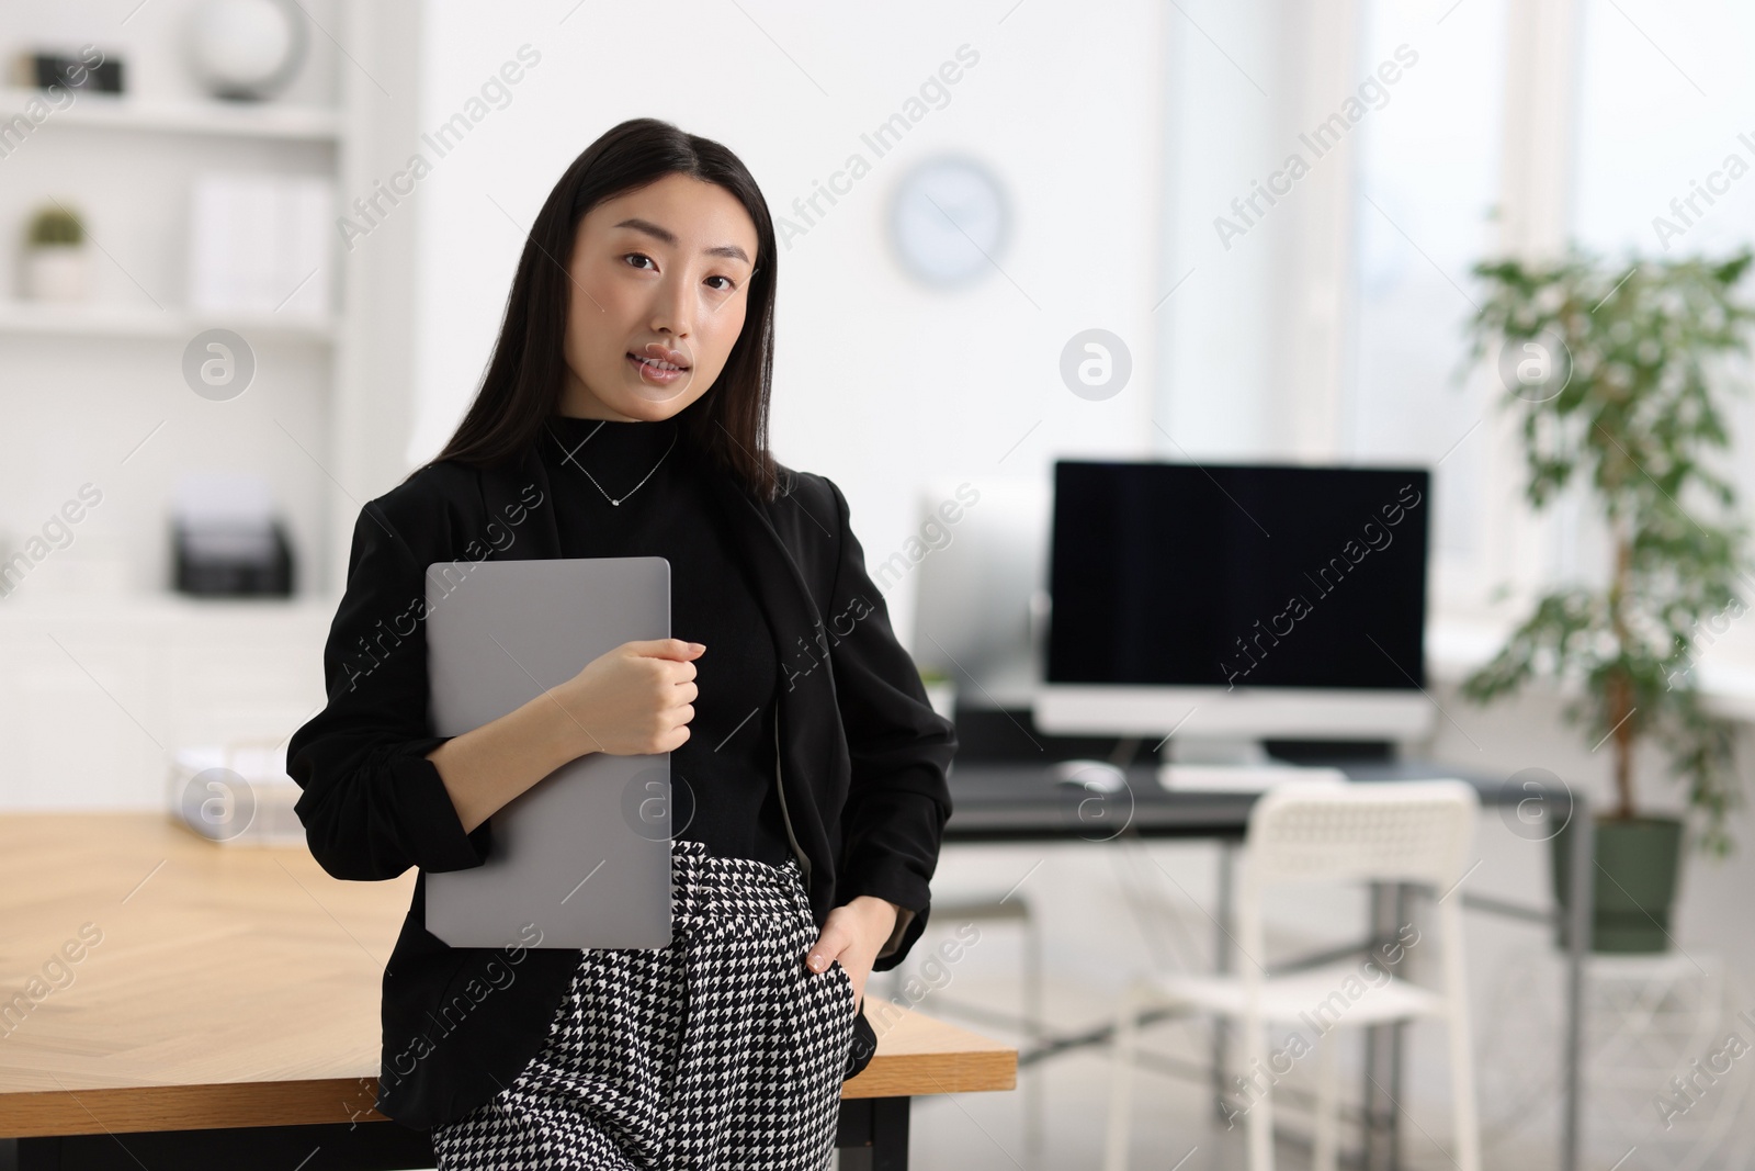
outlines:
[[[1244,853],[1258,885],[1464,876],[1479,795],[1465,781],[1286,785],[1250,811]]]

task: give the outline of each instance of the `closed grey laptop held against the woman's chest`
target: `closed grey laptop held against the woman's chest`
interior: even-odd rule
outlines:
[[[437,736],[462,736],[634,639],[670,636],[662,557],[433,562],[426,646]],[[426,930],[455,948],[670,943],[670,753],[572,760],[493,815],[491,853],[426,874]]]

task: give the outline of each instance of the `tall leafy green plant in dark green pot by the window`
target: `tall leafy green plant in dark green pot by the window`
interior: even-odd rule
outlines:
[[[1697,841],[1732,848],[1732,730],[1701,699],[1701,623],[1743,614],[1746,528],[1718,467],[1729,446],[1718,358],[1748,353],[1755,311],[1737,298],[1751,253],[1723,262],[1564,258],[1474,267],[1486,297],[1469,362],[1492,353],[1522,418],[1525,497],[1537,511],[1581,483],[1608,537],[1597,581],[1536,599],[1504,648],[1462,686],[1490,702],[1541,676],[1578,688],[1567,718],[1613,753],[1615,802],[1595,820],[1594,948],[1662,952],[1683,822],[1641,813],[1637,750],[1653,743],[1688,785]],[[1553,837],[1567,901],[1571,834]]]

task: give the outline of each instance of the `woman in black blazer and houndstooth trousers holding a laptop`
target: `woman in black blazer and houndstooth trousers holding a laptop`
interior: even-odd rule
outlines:
[[[330,874],[419,869],[376,1104],[441,1169],[823,1166],[867,976],[927,923],[956,739],[841,490],[767,451],[776,260],[730,151],[612,128],[537,214],[456,435],[355,527],[288,772]],[[670,560],[676,637],[432,736],[426,565],[642,555]],[[670,753],[670,946],[426,932],[425,876],[481,866],[490,816],[588,751]]]

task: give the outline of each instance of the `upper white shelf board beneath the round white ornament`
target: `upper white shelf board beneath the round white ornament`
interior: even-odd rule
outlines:
[[[72,105],[56,109],[39,90],[0,88],[0,112],[4,119],[11,119],[23,112],[32,98],[42,98],[49,116],[37,123],[37,130],[88,126],[307,142],[335,142],[342,133],[340,114],[321,105],[153,102],[126,95],[70,93],[75,95]]]

